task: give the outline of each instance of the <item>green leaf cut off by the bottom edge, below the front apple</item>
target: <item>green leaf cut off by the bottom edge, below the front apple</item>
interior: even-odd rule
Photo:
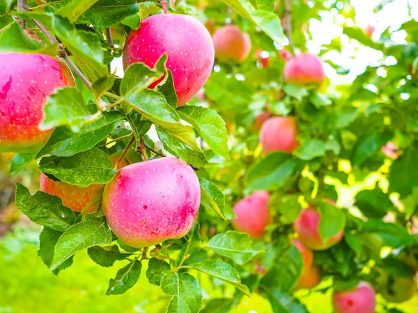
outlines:
[[[171,296],[167,313],[199,312],[203,305],[199,282],[189,273],[165,272],[161,280],[164,294]]]

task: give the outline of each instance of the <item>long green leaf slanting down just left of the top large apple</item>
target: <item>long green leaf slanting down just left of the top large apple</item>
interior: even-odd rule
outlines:
[[[52,28],[65,45],[65,49],[75,58],[89,65],[99,77],[107,76],[107,67],[102,64],[104,58],[102,43],[96,33],[76,29],[74,24],[57,16],[52,22]]]

